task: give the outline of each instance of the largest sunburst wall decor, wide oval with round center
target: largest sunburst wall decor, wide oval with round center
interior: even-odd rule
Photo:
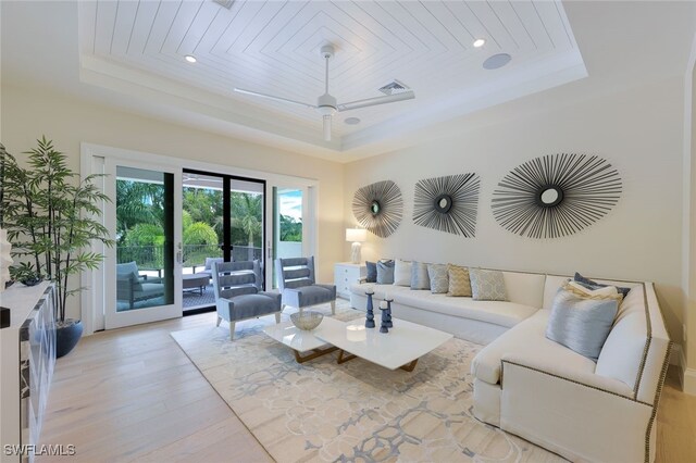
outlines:
[[[549,154],[514,167],[493,192],[493,215],[531,238],[572,235],[604,217],[621,197],[621,177],[597,155]]]

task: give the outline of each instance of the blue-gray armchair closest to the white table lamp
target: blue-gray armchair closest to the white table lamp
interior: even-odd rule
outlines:
[[[314,279],[314,258],[276,259],[275,270],[278,289],[286,305],[302,309],[331,302],[331,313],[336,314],[336,285],[319,285]]]

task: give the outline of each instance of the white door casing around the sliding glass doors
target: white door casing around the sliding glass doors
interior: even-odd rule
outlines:
[[[273,186],[281,187],[296,187],[298,185],[304,185],[309,189],[308,196],[308,218],[311,221],[311,225],[308,229],[308,242],[302,246],[302,250],[307,255],[319,255],[318,236],[319,236],[319,193],[320,185],[319,180],[314,178],[299,177],[293,175],[284,175],[272,172],[254,171],[249,168],[235,167],[232,165],[216,164],[204,161],[196,161],[184,158],[176,158],[171,155],[156,154],[146,151],[136,151],[124,148],[115,148],[105,145],[82,142],[80,143],[80,177],[84,179],[91,173],[103,173],[103,159],[104,158],[119,158],[133,162],[145,162],[148,164],[169,165],[171,167],[179,167],[191,171],[202,172],[220,172],[226,175],[264,179],[266,182],[266,195],[265,201],[269,201],[270,195],[268,191]],[[101,165],[100,165],[101,164]],[[96,182],[97,185],[103,186],[104,178],[99,178]],[[179,185],[181,186],[181,185]],[[265,203],[265,235],[264,239],[268,240],[269,224],[272,226],[272,204],[269,208],[269,203]],[[103,221],[102,216],[99,218]],[[269,222],[271,220],[271,222]],[[271,230],[272,232],[272,230]],[[92,242],[92,251],[102,252],[103,247],[99,242]],[[266,249],[268,255],[268,249]],[[319,272],[319,270],[318,270]],[[80,293],[80,310],[82,320],[84,325],[84,334],[91,335],[97,330],[101,330],[104,327],[103,321],[103,308],[104,308],[104,285],[108,281],[104,279],[103,263],[99,268],[94,271],[85,271],[82,274],[82,286],[88,287],[91,290],[82,291]],[[110,281],[109,281],[110,283]]]

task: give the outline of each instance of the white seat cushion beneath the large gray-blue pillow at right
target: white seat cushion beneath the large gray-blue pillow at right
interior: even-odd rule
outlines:
[[[549,311],[539,310],[530,318],[504,333],[484,347],[471,363],[471,373],[480,380],[495,385],[500,380],[500,359],[514,352],[518,355],[539,358],[544,363],[593,373],[595,362],[544,336]]]

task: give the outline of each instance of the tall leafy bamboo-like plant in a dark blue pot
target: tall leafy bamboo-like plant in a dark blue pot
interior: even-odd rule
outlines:
[[[21,262],[13,267],[15,275],[28,278],[27,283],[34,277],[55,285],[57,356],[62,356],[83,333],[82,322],[66,316],[71,296],[85,289],[76,284],[77,277],[97,268],[104,258],[91,252],[90,242],[113,246],[109,232],[97,221],[100,204],[110,199],[95,185],[100,175],[79,180],[65,154],[46,137],[24,154],[27,167],[9,153],[3,158],[3,226],[12,255]]]

